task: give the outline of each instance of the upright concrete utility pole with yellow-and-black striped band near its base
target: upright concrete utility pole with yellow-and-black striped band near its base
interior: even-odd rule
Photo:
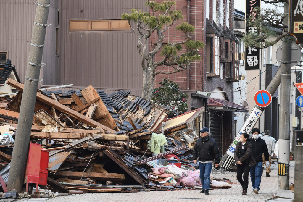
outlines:
[[[284,4],[284,13],[288,13],[288,4]],[[284,19],[288,24],[288,16]],[[285,29],[285,32],[288,32]],[[286,39],[286,38],[285,38]],[[290,74],[291,74],[291,42],[282,41],[281,58],[281,86],[280,86],[280,109],[279,109],[279,153],[278,167],[282,174],[278,175],[279,189],[289,190],[289,137],[290,137]],[[282,169],[281,169],[282,168]],[[278,172],[279,172],[278,171]]]

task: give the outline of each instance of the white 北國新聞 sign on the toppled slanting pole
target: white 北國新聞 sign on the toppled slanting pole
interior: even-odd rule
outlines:
[[[245,123],[241,127],[240,131],[238,132],[237,136],[235,137],[234,141],[228,147],[225,155],[223,156],[220,166],[226,170],[231,167],[232,162],[234,161],[234,151],[236,148],[236,144],[240,141],[240,135],[242,133],[250,133],[251,129],[254,128],[255,124],[259,120],[261,114],[263,113],[264,109],[254,108],[252,112],[249,114],[248,118],[246,119]]]

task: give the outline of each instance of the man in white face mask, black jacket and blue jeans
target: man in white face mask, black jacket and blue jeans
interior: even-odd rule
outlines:
[[[262,154],[266,160],[266,166],[269,164],[268,149],[265,141],[259,137],[260,130],[258,128],[253,128],[251,130],[252,137],[250,138],[250,143],[252,144],[251,155],[255,158],[257,164],[251,166],[250,168],[250,179],[253,188],[252,192],[256,194],[259,193],[261,184],[261,174],[263,166]]]

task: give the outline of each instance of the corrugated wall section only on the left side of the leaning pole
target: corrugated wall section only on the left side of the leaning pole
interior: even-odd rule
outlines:
[[[8,52],[19,78],[24,82],[36,5],[30,0],[0,1],[0,52]]]

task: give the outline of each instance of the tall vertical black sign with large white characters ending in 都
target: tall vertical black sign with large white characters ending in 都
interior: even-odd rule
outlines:
[[[303,0],[302,0],[303,1]],[[245,33],[258,33],[257,27],[249,27],[247,20],[250,17],[257,18],[257,13],[254,9],[260,8],[260,0],[246,0],[246,12],[245,12]],[[260,69],[260,50],[255,48],[245,48],[245,70],[258,70]]]

